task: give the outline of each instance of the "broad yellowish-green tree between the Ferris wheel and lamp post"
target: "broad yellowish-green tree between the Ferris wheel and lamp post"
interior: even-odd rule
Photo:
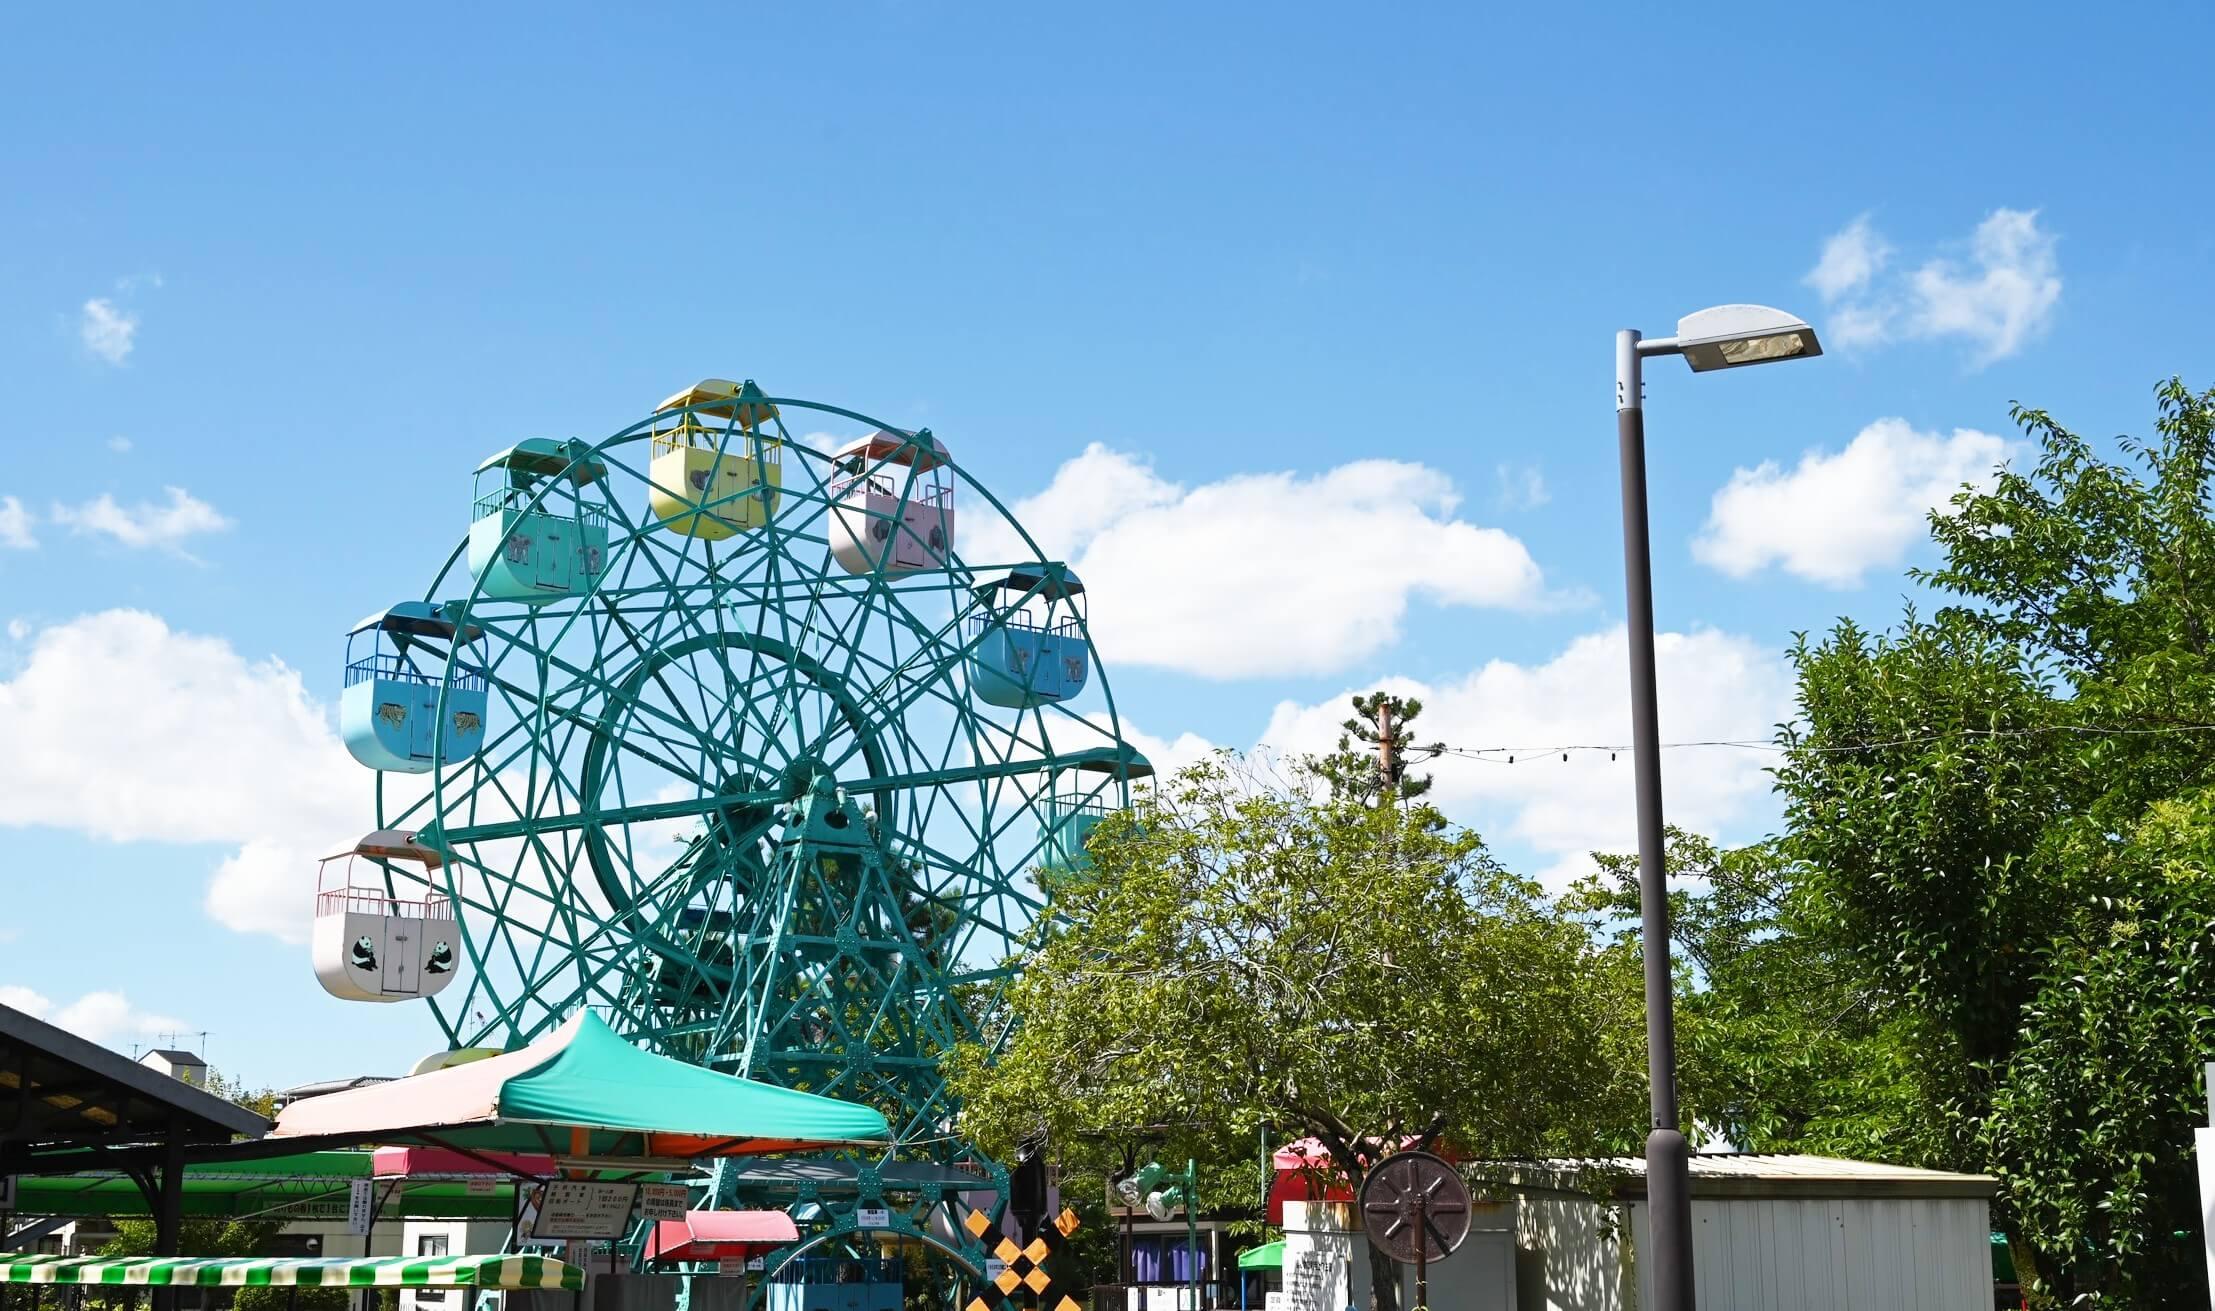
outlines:
[[[950,1059],[988,1149],[1037,1127],[1057,1147],[1147,1134],[1165,1160],[1216,1165],[1203,1202],[1251,1207],[1265,1132],[1318,1138],[1353,1187],[1402,1140],[1635,1140],[1635,968],[1429,806],[1218,755],[1088,850],[1021,961],[1021,1028],[997,1061]],[[1391,1309],[1391,1262],[1371,1271]]]

